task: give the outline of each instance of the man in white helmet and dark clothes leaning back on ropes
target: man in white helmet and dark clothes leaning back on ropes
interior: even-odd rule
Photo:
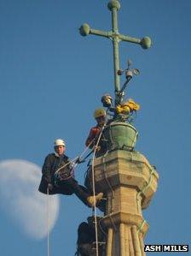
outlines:
[[[66,143],[64,140],[57,139],[54,144],[55,152],[49,154],[43,163],[43,176],[38,190],[41,193],[75,193],[85,205],[94,206],[94,197],[90,195],[87,188],[79,185],[74,179],[72,166],[68,157],[65,155]],[[61,170],[61,178],[55,179],[57,170]],[[103,193],[96,195],[96,203],[103,196]]]

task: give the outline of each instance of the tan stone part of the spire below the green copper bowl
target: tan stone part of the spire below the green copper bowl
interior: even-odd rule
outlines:
[[[115,128],[120,130],[121,124]],[[139,152],[114,150],[96,158],[95,174],[96,191],[107,194],[106,214],[101,219],[107,229],[105,255],[144,256],[148,223],[142,209],[148,207],[156,192],[156,170]]]

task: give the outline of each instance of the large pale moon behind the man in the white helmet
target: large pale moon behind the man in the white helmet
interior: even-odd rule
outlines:
[[[40,179],[37,164],[21,159],[0,162],[0,207],[26,235],[38,240],[54,228],[60,205],[58,195],[38,192]]]

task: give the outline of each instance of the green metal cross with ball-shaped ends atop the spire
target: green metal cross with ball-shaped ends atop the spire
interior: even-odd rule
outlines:
[[[142,39],[135,39],[129,36],[125,36],[119,33],[118,28],[118,11],[120,9],[120,3],[118,0],[112,0],[107,4],[108,9],[112,12],[112,26],[113,29],[110,32],[96,30],[90,28],[87,23],[84,23],[80,28],[79,32],[82,36],[89,34],[95,34],[113,41],[113,63],[114,63],[114,86],[115,86],[115,104],[119,103],[119,92],[120,92],[120,79],[119,79],[119,42],[126,41],[142,45],[143,49],[148,49],[151,46],[151,39],[144,37]]]

